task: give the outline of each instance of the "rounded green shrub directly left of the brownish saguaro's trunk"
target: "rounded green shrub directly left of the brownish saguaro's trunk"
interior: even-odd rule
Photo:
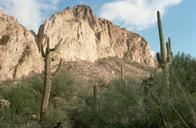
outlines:
[[[41,104],[41,91],[39,89],[41,84],[41,78],[35,76],[10,89],[6,98],[10,101],[12,112],[27,115],[38,114]]]

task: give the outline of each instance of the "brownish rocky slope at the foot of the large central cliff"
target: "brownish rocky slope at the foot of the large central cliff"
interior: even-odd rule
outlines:
[[[155,72],[155,68],[117,57],[99,59],[95,63],[87,61],[64,62],[61,71],[68,72],[76,79],[100,80],[106,84],[110,80],[120,79],[121,65],[123,78],[126,79],[144,80]]]

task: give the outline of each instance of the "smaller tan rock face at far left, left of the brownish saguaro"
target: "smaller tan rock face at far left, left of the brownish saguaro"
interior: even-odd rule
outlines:
[[[0,12],[0,81],[40,73],[42,69],[35,37],[14,17]]]

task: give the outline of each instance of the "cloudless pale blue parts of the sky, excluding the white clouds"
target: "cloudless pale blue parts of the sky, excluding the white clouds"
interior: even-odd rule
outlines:
[[[95,2],[94,0],[83,0],[80,2],[90,5],[98,15],[99,8],[103,3],[108,1],[100,0],[99,2]],[[62,7],[64,5],[74,6],[77,3],[78,1],[67,0],[64,1]],[[171,37],[174,53],[181,51],[196,57],[196,0],[183,0],[181,3],[167,8],[166,14],[162,17],[162,22],[164,25],[165,40],[169,36]],[[116,24],[124,27],[121,23]],[[155,52],[159,51],[157,24],[144,30],[127,29],[144,36],[149,42],[151,50]]]

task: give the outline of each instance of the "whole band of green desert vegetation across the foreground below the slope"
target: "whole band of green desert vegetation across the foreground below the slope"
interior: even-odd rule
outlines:
[[[196,59],[177,54],[170,69],[170,96],[164,97],[161,72],[144,81],[117,78],[106,88],[59,71],[52,80],[47,119],[39,123],[43,77],[5,82],[0,97],[2,128],[194,128]],[[94,83],[94,84],[93,84]],[[93,91],[94,90],[94,91]]]

